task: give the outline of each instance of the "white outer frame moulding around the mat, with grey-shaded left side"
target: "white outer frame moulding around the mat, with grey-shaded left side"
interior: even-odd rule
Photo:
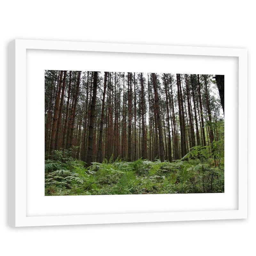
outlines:
[[[238,57],[238,210],[26,216],[26,50],[65,50]],[[9,44],[8,183],[13,227],[247,218],[247,49],[13,40]],[[16,125],[17,124],[17,125]],[[17,138],[17,139],[16,139]],[[14,155],[14,157],[13,157]],[[18,169],[19,167],[19,169]],[[16,180],[18,182],[16,182]]]

